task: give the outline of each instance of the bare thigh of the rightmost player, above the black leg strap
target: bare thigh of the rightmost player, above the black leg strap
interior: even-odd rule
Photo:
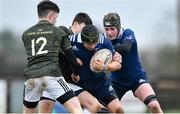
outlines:
[[[134,92],[135,96],[139,98],[142,102],[149,95],[155,95],[153,88],[149,83],[143,83]]]

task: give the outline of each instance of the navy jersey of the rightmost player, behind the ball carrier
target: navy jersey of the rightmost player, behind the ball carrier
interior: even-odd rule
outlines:
[[[110,77],[112,80],[131,83],[132,81],[139,79],[139,76],[146,74],[139,61],[137,42],[132,30],[122,29],[121,35],[117,39],[112,40],[111,43],[115,46],[118,43],[122,44],[124,40],[132,42],[132,46],[129,53],[122,57],[121,70],[112,72]]]

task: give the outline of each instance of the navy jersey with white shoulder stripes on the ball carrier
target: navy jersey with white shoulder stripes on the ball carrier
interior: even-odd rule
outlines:
[[[111,42],[106,37],[104,37],[103,35],[100,35],[98,43],[97,43],[95,49],[92,51],[89,51],[84,47],[82,40],[81,40],[81,33],[70,36],[70,42],[71,42],[71,45],[73,46],[73,51],[74,51],[76,57],[81,59],[81,61],[83,62],[83,66],[82,66],[82,69],[80,72],[81,81],[94,80],[97,78],[106,77],[104,72],[94,73],[90,70],[90,60],[91,60],[92,56],[98,50],[107,48],[107,49],[111,50],[113,55],[115,53],[115,50],[113,49]]]

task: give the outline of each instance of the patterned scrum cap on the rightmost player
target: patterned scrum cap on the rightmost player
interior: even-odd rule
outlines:
[[[116,27],[118,30],[121,28],[121,19],[117,13],[108,13],[103,18],[104,27]]]

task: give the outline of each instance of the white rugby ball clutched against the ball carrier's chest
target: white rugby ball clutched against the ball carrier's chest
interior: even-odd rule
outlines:
[[[108,65],[109,63],[111,63],[112,61],[112,53],[109,49],[101,49],[99,51],[97,51],[91,58],[90,61],[90,69],[91,71],[98,73],[98,72],[102,72],[102,70],[98,70],[93,68],[93,61],[94,60],[100,60],[104,62],[104,65]]]

